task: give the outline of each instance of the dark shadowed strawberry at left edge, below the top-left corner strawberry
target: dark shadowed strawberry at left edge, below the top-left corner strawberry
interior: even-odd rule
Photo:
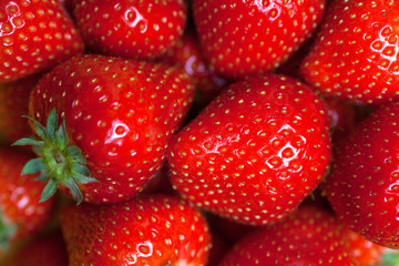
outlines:
[[[22,115],[28,115],[29,94],[40,76],[30,75],[0,83],[0,134],[9,142],[32,135],[32,130]]]

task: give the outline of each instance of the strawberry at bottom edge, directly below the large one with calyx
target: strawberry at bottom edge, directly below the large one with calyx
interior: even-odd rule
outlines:
[[[114,205],[73,205],[60,219],[71,266],[204,266],[211,247],[200,212],[162,194]]]

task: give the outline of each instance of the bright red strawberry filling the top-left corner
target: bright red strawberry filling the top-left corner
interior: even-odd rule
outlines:
[[[58,0],[0,2],[0,82],[50,70],[82,52],[82,39]]]

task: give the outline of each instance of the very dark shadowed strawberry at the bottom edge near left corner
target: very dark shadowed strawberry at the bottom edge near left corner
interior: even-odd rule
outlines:
[[[17,252],[6,266],[68,266],[65,242],[61,232],[48,233]]]

